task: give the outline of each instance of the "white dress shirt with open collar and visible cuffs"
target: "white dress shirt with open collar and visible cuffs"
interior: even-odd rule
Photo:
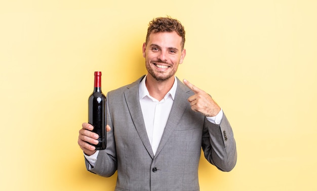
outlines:
[[[153,154],[155,155],[157,147],[159,147],[174,102],[175,93],[177,89],[177,80],[175,77],[173,87],[161,101],[150,96],[145,86],[145,80],[146,76],[143,78],[139,86],[139,100],[147,136],[152,146]],[[223,111],[221,109],[217,116],[207,117],[207,120],[211,123],[219,125],[221,123],[222,117]],[[92,166],[95,166],[96,164],[98,153],[99,150],[97,150],[95,154],[91,156],[87,156],[84,154],[85,158],[89,161],[89,163]]]

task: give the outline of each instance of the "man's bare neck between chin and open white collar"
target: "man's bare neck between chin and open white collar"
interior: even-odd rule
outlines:
[[[161,101],[173,87],[174,80],[175,77],[173,75],[173,77],[166,81],[156,81],[150,74],[148,74],[145,85],[150,96]]]

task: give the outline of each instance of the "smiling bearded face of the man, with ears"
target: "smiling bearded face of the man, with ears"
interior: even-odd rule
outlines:
[[[156,32],[149,35],[147,45],[143,44],[143,57],[148,73],[156,81],[166,81],[183,62],[185,49],[181,50],[182,37],[175,31]]]

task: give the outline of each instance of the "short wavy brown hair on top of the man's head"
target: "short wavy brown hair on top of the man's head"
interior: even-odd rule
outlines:
[[[184,26],[177,19],[171,17],[158,17],[149,22],[146,34],[145,44],[149,41],[151,32],[177,32],[182,37],[181,47],[184,49],[185,45],[185,30]]]

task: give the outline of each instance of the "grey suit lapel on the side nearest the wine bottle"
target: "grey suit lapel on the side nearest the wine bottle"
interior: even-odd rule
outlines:
[[[139,80],[137,80],[135,83],[131,84],[130,87],[128,87],[128,90],[125,91],[125,98],[126,98],[126,102],[127,102],[134,126],[143,142],[143,145],[145,146],[149,155],[153,159],[154,154],[153,154],[152,147],[146,133],[146,128],[145,128],[143,114],[142,114],[140,100],[139,100],[139,84],[143,78],[144,76],[141,77]]]

